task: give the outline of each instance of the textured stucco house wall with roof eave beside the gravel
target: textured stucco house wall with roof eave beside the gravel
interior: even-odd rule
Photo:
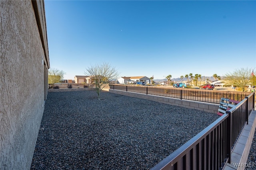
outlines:
[[[0,1],[0,169],[30,169],[48,94],[44,1]]]

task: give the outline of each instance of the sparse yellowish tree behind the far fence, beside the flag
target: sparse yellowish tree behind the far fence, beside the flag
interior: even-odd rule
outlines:
[[[245,86],[252,82],[252,76],[250,69],[241,68],[235,69],[233,73],[226,73],[224,80],[228,81],[231,85],[240,87],[242,91],[245,91]]]

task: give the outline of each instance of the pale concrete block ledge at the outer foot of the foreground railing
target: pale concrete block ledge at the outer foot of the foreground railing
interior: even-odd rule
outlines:
[[[252,138],[254,136],[256,128],[256,111],[253,111],[249,117],[248,125],[246,125],[242,131],[242,134],[238,138],[236,145],[233,148],[233,152],[231,154],[231,163],[227,163],[223,170],[244,170],[246,166],[250,166],[246,164],[251,144]],[[254,153],[256,154],[256,153]],[[256,165],[253,168],[256,168]]]

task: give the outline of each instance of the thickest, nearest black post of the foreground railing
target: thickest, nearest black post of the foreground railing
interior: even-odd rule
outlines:
[[[226,114],[228,114],[227,118],[227,127],[226,127],[226,156],[228,158],[228,163],[231,163],[231,140],[232,140],[232,114],[230,111],[226,111]]]

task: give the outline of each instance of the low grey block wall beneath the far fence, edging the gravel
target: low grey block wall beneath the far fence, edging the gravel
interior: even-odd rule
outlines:
[[[175,105],[175,106],[186,107],[186,108],[190,108],[190,109],[197,109],[197,110],[205,111],[205,112],[209,112],[209,113],[217,113],[218,108],[219,108],[218,104],[213,104],[213,103],[181,100],[181,99],[175,99],[175,98],[170,98],[170,97],[146,95],[146,94],[142,94],[142,93],[134,93],[134,92],[128,92],[128,91],[113,90],[113,89],[109,89],[109,92],[120,94],[120,95],[127,95],[130,97],[138,97],[138,98],[142,98],[142,99],[148,99],[148,100],[157,101],[160,103],[165,103],[168,105]]]

